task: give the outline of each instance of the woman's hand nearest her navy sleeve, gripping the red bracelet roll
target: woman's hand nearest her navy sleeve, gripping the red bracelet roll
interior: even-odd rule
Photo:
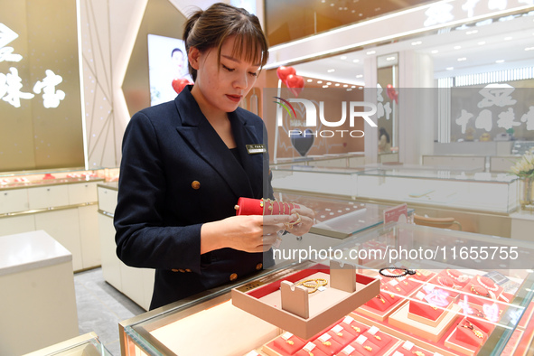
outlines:
[[[295,219],[293,215],[239,215],[207,222],[201,228],[201,254],[219,248],[267,251],[276,243],[276,232]]]

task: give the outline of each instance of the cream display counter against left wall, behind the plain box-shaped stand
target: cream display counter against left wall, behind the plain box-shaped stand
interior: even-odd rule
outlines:
[[[74,271],[98,267],[97,184],[111,174],[81,168],[0,173],[0,230],[46,230],[70,250]]]

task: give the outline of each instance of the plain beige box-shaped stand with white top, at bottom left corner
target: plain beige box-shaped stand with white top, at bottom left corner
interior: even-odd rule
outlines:
[[[0,355],[79,335],[72,255],[42,230],[0,237]]]

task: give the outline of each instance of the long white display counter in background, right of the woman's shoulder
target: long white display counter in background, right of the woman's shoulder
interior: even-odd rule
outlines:
[[[286,165],[272,168],[280,192],[314,192],[365,201],[407,202],[509,214],[518,209],[517,176],[479,168],[367,164],[357,168]]]

